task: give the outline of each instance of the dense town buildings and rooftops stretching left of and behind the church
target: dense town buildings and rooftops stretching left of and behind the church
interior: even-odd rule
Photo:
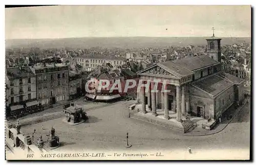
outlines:
[[[113,83],[117,79],[137,81],[136,73],[154,63],[203,56],[206,52],[206,45],[193,44],[143,49],[6,49],[6,106],[9,112],[28,105],[36,109],[51,107],[85,96],[86,81],[92,78]],[[222,45],[221,63],[224,72],[244,79],[245,86],[250,86],[250,43]],[[136,92],[131,93],[135,99]]]

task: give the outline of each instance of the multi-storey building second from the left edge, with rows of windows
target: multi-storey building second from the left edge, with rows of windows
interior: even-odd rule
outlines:
[[[69,67],[39,64],[31,67],[36,75],[36,98],[42,106],[69,100]]]

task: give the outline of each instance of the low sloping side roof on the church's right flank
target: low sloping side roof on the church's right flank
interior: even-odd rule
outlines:
[[[206,91],[207,93],[210,93],[212,96],[216,96],[233,83],[217,75],[211,75],[192,84]]]

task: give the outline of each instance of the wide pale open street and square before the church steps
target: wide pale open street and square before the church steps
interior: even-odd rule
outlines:
[[[89,121],[76,126],[55,119],[32,126],[22,127],[29,133],[46,134],[53,126],[61,146],[56,151],[78,150],[122,150],[126,149],[126,132],[129,132],[131,151],[136,150],[245,150],[250,146],[250,105],[247,104],[237,117],[221,132],[208,136],[182,136],[165,127],[127,117],[127,106],[131,101],[120,102],[109,107],[88,112]],[[41,125],[48,130],[41,131]]]

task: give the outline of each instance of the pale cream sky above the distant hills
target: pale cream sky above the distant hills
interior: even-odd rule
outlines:
[[[45,6],[5,9],[6,39],[251,37],[250,6]]]

